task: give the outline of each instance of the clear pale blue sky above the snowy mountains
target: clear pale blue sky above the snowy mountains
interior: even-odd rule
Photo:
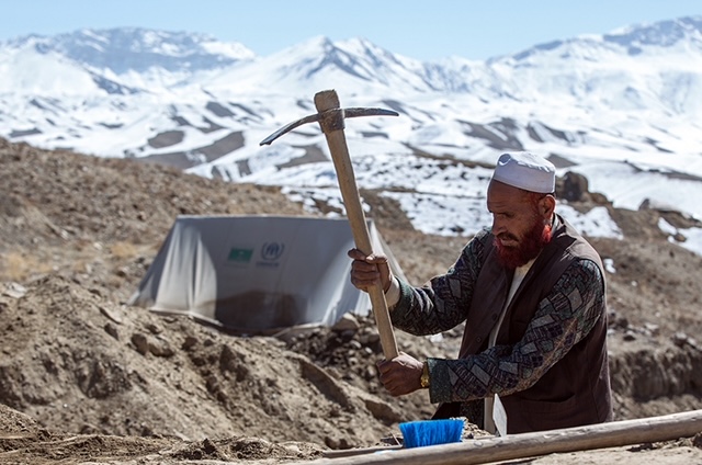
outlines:
[[[0,0],[0,41],[138,26],[210,34],[258,56],[324,35],[420,60],[484,60],[581,34],[702,15],[700,0]]]

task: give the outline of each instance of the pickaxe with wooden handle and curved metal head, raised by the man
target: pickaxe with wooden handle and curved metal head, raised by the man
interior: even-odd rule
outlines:
[[[347,208],[347,216],[349,217],[355,247],[366,256],[370,256],[373,253],[373,246],[371,243],[369,227],[365,222],[365,214],[361,206],[361,197],[355,184],[353,167],[351,166],[351,159],[349,158],[349,148],[343,134],[343,120],[354,116],[398,116],[399,114],[397,112],[383,109],[341,109],[339,104],[339,97],[335,90],[326,90],[316,93],[315,106],[317,107],[317,114],[305,116],[278,129],[275,133],[263,139],[260,145],[269,145],[283,134],[302,126],[303,124],[314,122],[319,123],[321,132],[325,133],[325,136],[327,137],[327,144],[329,146],[329,151],[331,152],[335,170],[337,171],[339,189],[341,190],[343,205]],[[398,355],[397,343],[395,341],[395,333],[393,332],[393,325],[390,324],[387,303],[385,302],[385,293],[383,292],[382,285],[377,283],[372,286],[369,290],[369,295],[371,296],[373,315],[375,316],[375,322],[381,336],[383,354],[387,360],[395,359]]]

